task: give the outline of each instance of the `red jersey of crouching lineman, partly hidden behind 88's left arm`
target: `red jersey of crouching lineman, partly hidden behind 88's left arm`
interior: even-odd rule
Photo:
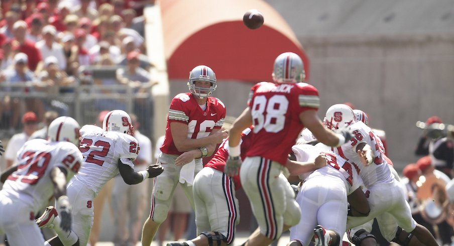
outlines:
[[[252,134],[251,129],[248,128],[241,133],[241,160],[244,160],[246,157],[246,151],[251,146]],[[217,150],[216,154],[214,154],[213,158],[205,165],[205,167],[210,167],[212,169],[224,172],[225,163],[227,158],[229,158],[229,141],[228,139],[224,140],[222,144],[220,144],[219,149]],[[237,174],[233,177],[235,183],[235,190],[241,188],[240,182],[240,175]]]

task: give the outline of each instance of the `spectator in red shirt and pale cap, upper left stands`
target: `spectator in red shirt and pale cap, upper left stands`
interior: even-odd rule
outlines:
[[[40,71],[42,67],[41,52],[35,47],[35,43],[25,39],[27,23],[24,21],[17,21],[13,25],[13,33],[15,38],[14,42],[17,43],[16,50],[25,53],[28,56],[28,67],[30,70],[35,71],[38,68],[38,71]],[[13,44],[13,47],[14,45],[15,44]]]

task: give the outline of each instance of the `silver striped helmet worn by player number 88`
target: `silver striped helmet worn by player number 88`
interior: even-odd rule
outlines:
[[[304,65],[293,52],[280,54],[274,61],[273,80],[276,83],[296,83],[304,81]]]

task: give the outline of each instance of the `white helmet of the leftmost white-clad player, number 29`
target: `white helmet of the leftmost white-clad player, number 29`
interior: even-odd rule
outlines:
[[[79,123],[71,117],[61,116],[54,119],[47,129],[47,139],[52,142],[66,141],[79,147]]]

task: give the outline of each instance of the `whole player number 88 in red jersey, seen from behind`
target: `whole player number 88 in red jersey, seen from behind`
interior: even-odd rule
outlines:
[[[252,145],[246,153],[240,179],[260,233],[251,235],[246,245],[269,245],[300,219],[300,209],[285,177],[288,175],[285,165],[301,130],[307,127],[329,146],[340,146],[351,136],[348,131],[333,134],[323,127],[316,115],[318,91],[302,83],[304,69],[298,55],[292,52],[279,55],[274,62],[273,79],[274,83],[261,82],[252,87],[248,107],[230,132],[230,157],[224,171],[235,175],[241,165],[241,132],[254,125]]]

